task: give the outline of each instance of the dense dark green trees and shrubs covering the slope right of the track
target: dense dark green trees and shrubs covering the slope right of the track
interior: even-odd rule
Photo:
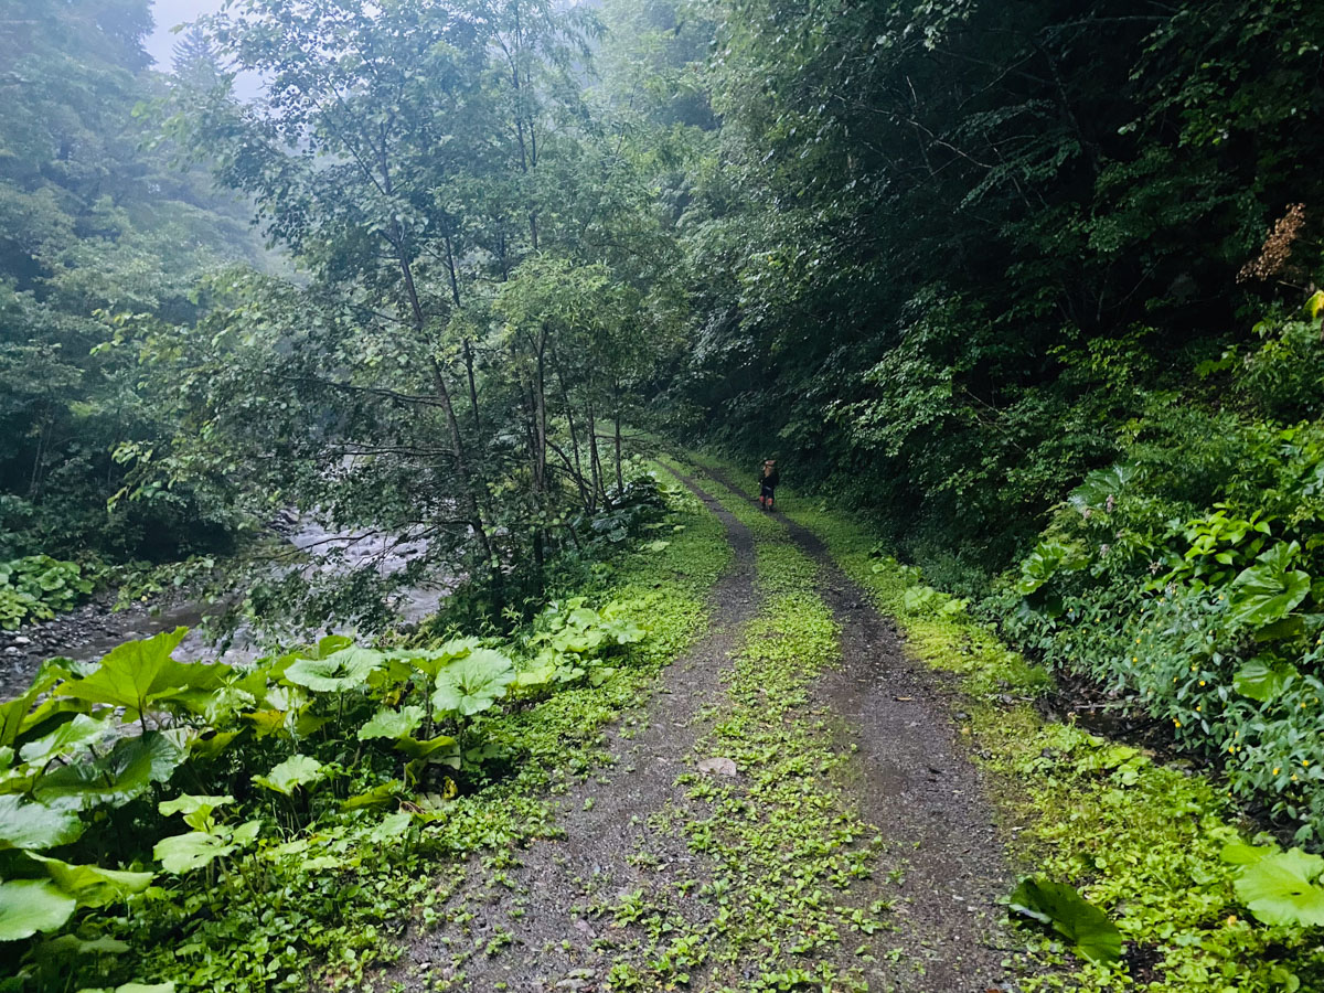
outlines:
[[[659,413],[853,495],[1317,842],[1317,4],[715,20]]]

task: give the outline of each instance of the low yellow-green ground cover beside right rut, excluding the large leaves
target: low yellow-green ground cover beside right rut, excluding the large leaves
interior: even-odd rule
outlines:
[[[863,524],[789,491],[780,502],[898,621],[915,657],[959,678],[970,715],[961,731],[1016,825],[1014,854],[1038,875],[1079,887],[1129,943],[1116,965],[1050,969],[1025,980],[1025,990],[1324,989],[1319,932],[1260,924],[1238,903],[1235,867],[1221,859],[1239,835],[1238,817],[1213,781],[1043,720],[1033,698],[1051,686],[1049,674],[1010,651],[960,601],[925,587],[918,569],[880,553]],[[1043,965],[1067,960],[1049,939],[1031,937],[1026,955]]]

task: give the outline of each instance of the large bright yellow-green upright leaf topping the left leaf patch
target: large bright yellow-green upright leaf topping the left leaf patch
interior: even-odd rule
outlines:
[[[136,720],[151,704],[166,704],[189,691],[214,690],[233,671],[224,665],[176,662],[171,653],[188,628],[162,632],[113,649],[90,675],[60,686],[61,696],[124,708],[126,720]]]

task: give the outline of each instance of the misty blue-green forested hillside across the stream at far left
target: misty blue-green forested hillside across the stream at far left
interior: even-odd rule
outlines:
[[[115,449],[168,430],[113,315],[188,323],[200,273],[258,258],[238,204],[147,147],[148,7],[0,5],[0,557],[167,559],[233,524],[188,485],[106,507]]]

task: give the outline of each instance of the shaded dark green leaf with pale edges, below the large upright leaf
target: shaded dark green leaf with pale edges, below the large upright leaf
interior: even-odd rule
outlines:
[[[184,761],[184,749],[159,731],[122,737],[109,753],[52,769],[37,780],[37,800],[60,806],[90,809],[101,804],[123,806],[166,782]]]

